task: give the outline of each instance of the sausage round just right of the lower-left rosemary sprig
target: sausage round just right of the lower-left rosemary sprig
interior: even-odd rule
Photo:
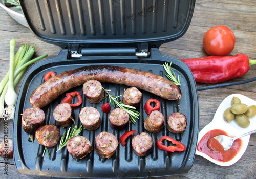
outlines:
[[[67,149],[73,159],[82,159],[93,149],[91,142],[84,136],[74,136],[69,139]]]

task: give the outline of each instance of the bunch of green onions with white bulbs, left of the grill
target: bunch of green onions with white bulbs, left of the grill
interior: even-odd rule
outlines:
[[[9,71],[3,80],[0,82],[0,118],[4,120],[13,119],[15,103],[17,99],[17,94],[15,92],[15,86],[18,84],[26,69],[32,63],[47,57],[48,55],[42,55],[35,59],[32,59],[35,48],[26,43],[21,46],[18,51],[14,52],[15,49],[15,39],[10,41],[10,66]],[[7,107],[5,107],[5,104]]]

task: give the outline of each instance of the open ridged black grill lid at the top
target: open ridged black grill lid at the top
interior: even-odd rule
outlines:
[[[71,49],[159,48],[187,30],[195,0],[20,0],[31,31],[42,41]],[[143,45],[142,45],[143,46]]]

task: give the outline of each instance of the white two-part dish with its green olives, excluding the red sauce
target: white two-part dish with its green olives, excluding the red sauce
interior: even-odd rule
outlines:
[[[256,101],[241,94],[232,94],[226,97],[216,110],[214,118],[207,124],[198,135],[198,142],[209,131],[214,129],[221,129],[227,133],[228,136],[234,137],[242,135],[245,132],[256,130]],[[247,149],[250,135],[240,138],[242,146],[234,158],[228,162],[216,161],[210,156],[196,151],[197,155],[203,156],[205,159],[220,165],[230,166],[236,163]]]

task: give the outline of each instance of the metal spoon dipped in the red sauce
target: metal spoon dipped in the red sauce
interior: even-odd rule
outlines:
[[[247,136],[247,135],[250,135],[252,133],[256,133],[256,130],[252,130],[250,132],[244,133],[243,135],[239,135],[239,136],[233,137],[233,138],[225,136],[225,135],[215,136],[214,138],[221,143],[224,150],[226,151],[226,150],[231,148],[234,140],[236,140],[238,138],[242,138],[242,137]]]

